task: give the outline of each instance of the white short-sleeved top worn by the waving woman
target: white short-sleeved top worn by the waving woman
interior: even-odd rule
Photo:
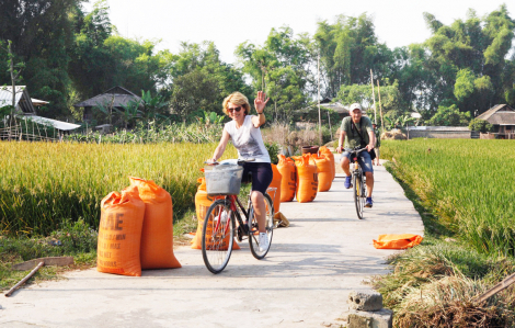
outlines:
[[[271,162],[261,136],[261,129],[254,127],[251,115],[245,115],[240,128],[236,128],[236,121],[226,123],[224,128],[231,136],[232,144],[238,150],[238,158],[255,158],[255,162]]]

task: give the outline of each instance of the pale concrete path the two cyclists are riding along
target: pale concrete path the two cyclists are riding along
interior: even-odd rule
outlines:
[[[352,290],[385,274],[380,234],[423,234],[402,189],[376,168],[374,208],[358,220],[339,173],[312,203],[282,203],[290,220],[274,230],[268,256],[255,260],[247,242],[226,270],[207,271],[199,250],[181,247],[182,269],[144,271],[141,278],[71,272],[66,280],[0,298],[0,327],[339,327]]]

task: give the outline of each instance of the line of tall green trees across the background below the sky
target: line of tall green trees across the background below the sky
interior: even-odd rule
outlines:
[[[318,65],[322,98],[365,108],[373,104],[371,69],[389,122],[416,111],[426,123],[446,125],[454,117],[465,125],[494,104],[515,106],[515,21],[505,5],[483,16],[470,9],[450,25],[424,13],[431,37],[393,49],[378,41],[366,13],[320,21],[314,35],[274,27],[263,44],[242,41],[238,63],[228,64],[213,41],[182,43],[172,54],[158,52],[156,41],[123,37],[106,0],[91,12],[84,2],[0,0],[0,86],[11,84],[10,60],[22,64],[18,84],[50,102],[42,115],[80,121],[73,103],[123,86],[149,92],[167,104],[160,114],[185,122],[221,114],[232,91],[265,90],[271,118],[288,122],[313,105]]]

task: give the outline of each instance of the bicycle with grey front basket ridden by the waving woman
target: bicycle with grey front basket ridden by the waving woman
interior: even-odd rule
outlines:
[[[243,168],[241,165],[243,162],[252,161],[253,159],[248,160],[238,160],[237,165]],[[216,165],[209,163],[207,165]],[[224,178],[220,178],[224,172],[224,163],[219,163],[221,169],[217,172],[217,178],[224,181]],[[227,171],[230,170],[227,166]],[[231,167],[236,167],[232,165]],[[241,174],[236,174],[232,177],[231,182],[236,180],[241,181]],[[229,182],[229,184],[231,183]],[[209,182],[206,174],[206,183],[209,194]],[[239,241],[249,239],[249,246],[254,258],[261,260],[263,259],[270,250],[272,245],[273,228],[274,228],[274,203],[271,196],[265,193],[264,202],[266,208],[266,235],[268,238],[268,247],[264,250],[260,250],[259,244],[259,225],[258,219],[254,217],[254,207],[251,201],[251,192],[248,195],[248,205],[247,208],[242,205],[241,201],[238,199],[239,184],[238,188],[234,185],[229,186],[232,190],[226,190],[226,192],[217,193],[213,195],[224,196],[224,199],[216,200],[207,210],[206,217],[204,219],[204,226],[202,231],[202,257],[204,259],[204,264],[211,273],[220,273],[229,262],[232,246],[234,241],[234,234]],[[238,189],[238,191],[236,190]],[[209,194],[211,195],[211,194]],[[242,218],[244,217],[244,220]],[[250,219],[251,218],[251,219]],[[238,228],[236,227],[238,223]]]

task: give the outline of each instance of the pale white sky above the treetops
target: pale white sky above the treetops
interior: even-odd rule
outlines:
[[[91,11],[92,3],[84,5]],[[237,64],[233,53],[245,41],[263,45],[272,29],[287,25],[294,34],[313,35],[317,22],[334,23],[344,14],[373,16],[379,42],[394,48],[431,36],[423,12],[448,25],[466,20],[471,8],[483,16],[501,4],[515,19],[515,1],[499,0],[107,0],[111,22],[125,37],[161,39],[158,49],[179,53],[181,42],[213,41],[221,60]]]

